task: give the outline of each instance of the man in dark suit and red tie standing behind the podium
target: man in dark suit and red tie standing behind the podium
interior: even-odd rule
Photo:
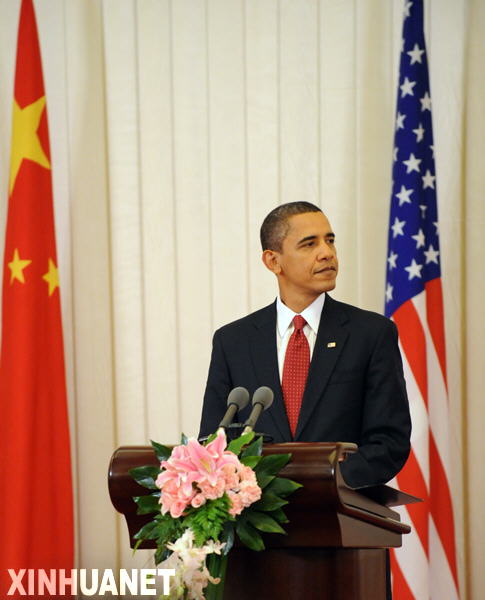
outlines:
[[[261,243],[279,297],[216,331],[201,436],[217,429],[232,388],[252,393],[265,385],[275,397],[258,431],[274,442],[355,442],[358,452],[342,463],[348,485],[388,481],[406,461],[411,433],[394,323],[327,294],[335,287],[338,261],[335,235],[318,207],[307,202],[277,207],[263,222]],[[298,315],[309,368],[294,417],[284,391],[285,353],[297,334]],[[249,408],[242,411],[239,420],[248,413]]]

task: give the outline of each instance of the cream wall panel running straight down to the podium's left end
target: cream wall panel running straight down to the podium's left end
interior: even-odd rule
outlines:
[[[119,444],[140,443],[147,433],[135,16],[132,0],[103,3]]]

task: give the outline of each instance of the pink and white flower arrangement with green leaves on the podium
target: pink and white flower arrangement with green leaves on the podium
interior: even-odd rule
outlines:
[[[278,477],[291,455],[262,456],[262,444],[249,432],[227,445],[222,429],[206,445],[185,436],[173,449],[152,442],[160,467],[130,471],[150,490],[134,498],[137,513],[155,515],[135,535],[135,548],[155,540],[155,563],[175,569],[171,599],[222,599],[235,536],[260,551],[262,532],[286,533],[282,507],[301,486]]]

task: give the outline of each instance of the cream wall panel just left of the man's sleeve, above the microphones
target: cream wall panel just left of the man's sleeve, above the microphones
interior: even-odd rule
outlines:
[[[172,27],[181,425],[187,435],[196,435],[213,331],[205,3],[173,2]]]

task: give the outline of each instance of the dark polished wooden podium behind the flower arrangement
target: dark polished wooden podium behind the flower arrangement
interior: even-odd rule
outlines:
[[[419,500],[385,485],[349,488],[339,465],[355,451],[341,442],[264,446],[265,455],[292,454],[280,475],[303,487],[284,507],[288,535],[263,534],[264,552],[237,544],[231,550],[225,600],[385,600],[386,548],[400,546],[411,530],[390,507]],[[157,460],[145,446],[119,448],[110,463],[109,493],[126,518],[131,547],[152,515],[136,514],[132,496],[149,492],[128,471],[148,464]]]

